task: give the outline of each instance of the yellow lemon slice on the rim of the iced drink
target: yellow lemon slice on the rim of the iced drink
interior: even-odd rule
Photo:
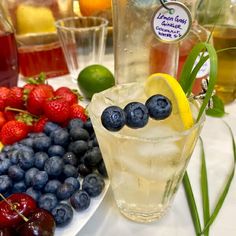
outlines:
[[[188,99],[179,82],[171,75],[157,73],[150,75],[144,87],[147,97],[162,94],[172,102],[171,122],[175,122],[178,130],[186,130],[193,126],[194,120]]]

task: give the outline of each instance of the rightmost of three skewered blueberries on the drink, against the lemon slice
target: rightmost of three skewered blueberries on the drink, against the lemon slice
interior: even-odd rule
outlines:
[[[160,94],[151,96],[145,105],[148,108],[150,117],[155,120],[166,119],[172,112],[171,101]]]

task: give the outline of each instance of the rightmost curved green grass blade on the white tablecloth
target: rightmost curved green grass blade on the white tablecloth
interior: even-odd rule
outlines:
[[[236,145],[235,145],[235,140],[234,140],[234,136],[233,136],[233,132],[232,132],[232,129],[230,128],[230,126],[225,123],[226,126],[228,127],[229,129],[229,132],[230,132],[230,135],[231,135],[231,138],[232,138],[232,146],[233,146],[233,155],[234,155],[234,165],[233,165],[233,169],[229,175],[229,178],[226,182],[226,185],[224,187],[224,190],[223,192],[221,193],[218,201],[217,201],[217,204],[216,204],[216,207],[208,221],[208,223],[205,225],[205,228],[203,229],[202,233],[201,234],[204,234],[208,229],[209,227],[212,225],[212,223],[214,222],[214,220],[216,219],[221,207],[223,206],[223,203],[224,203],[224,200],[227,196],[227,193],[229,191],[229,188],[230,188],[230,185],[231,185],[231,182],[233,180],[233,177],[234,177],[234,173],[235,173],[235,165],[236,165]]]

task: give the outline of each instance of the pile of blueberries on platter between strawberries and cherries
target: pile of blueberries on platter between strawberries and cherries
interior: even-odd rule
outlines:
[[[73,119],[62,128],[48,122],[43,133],[5,146],[0,153],[0,193],[25,192],[56,224],[68,224],[76,211],[90,205],[107,177],[91,121]]]

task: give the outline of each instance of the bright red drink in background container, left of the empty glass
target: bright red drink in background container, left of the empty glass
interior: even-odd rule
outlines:
[[[36,36],[37,37],[37,36]],[[19,47],[20,73],[26,77],[44,72],[48,78],[68,74],[59,42]]]

